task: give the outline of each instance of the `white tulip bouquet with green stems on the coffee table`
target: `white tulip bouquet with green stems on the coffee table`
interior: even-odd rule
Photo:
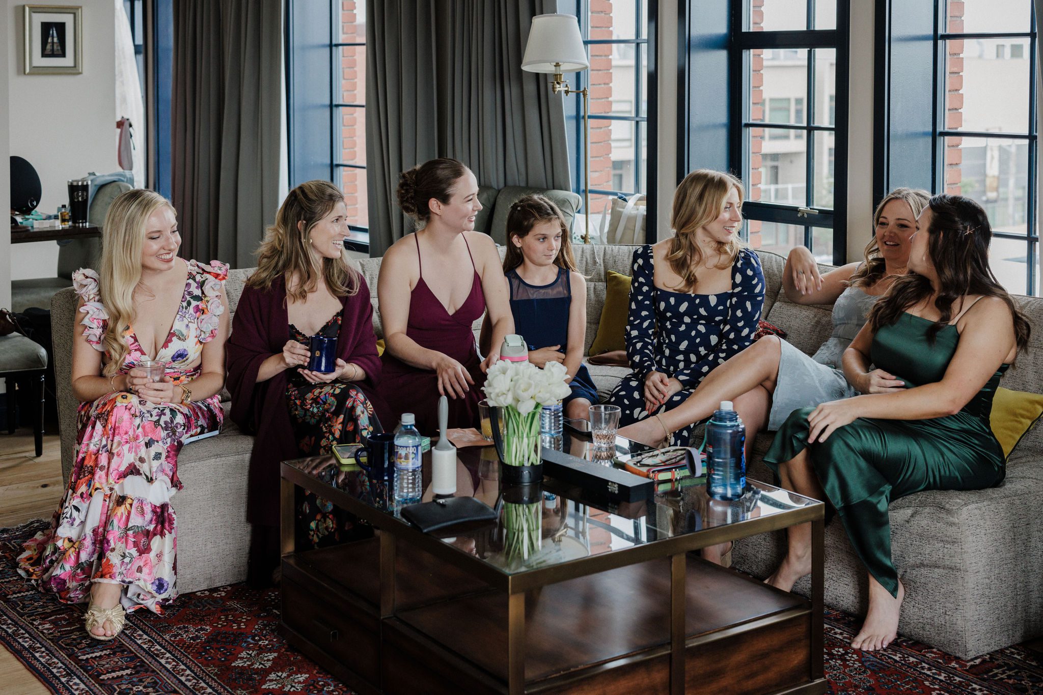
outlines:
[[[543,369],[529,362],[508,361],[489,367],[484,391],[489,405],[500,408],[505,464],[540,463],[539,414],[543,405],[553,405],[572,392],[567,376],[565,366],[558,362],[549,362]]]

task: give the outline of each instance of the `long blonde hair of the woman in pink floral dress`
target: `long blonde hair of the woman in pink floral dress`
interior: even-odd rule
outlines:
[[[105,214],[105,237],[98,268],[98,294],[108,315],[101,344],[108,354],[102,374],[119,371],[130,348],[123,339],[135,321],[134,291],[141,282],[141,247],[148,231],[148,218],[170,201],[155,191],[134,189],[121,194]],[[159,347],[159,346],[157,346]]]

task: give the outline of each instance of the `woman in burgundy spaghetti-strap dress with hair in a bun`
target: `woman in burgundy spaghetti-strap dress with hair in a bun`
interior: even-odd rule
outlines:
[[[496,246],[474,231],[482,209],[478,181],[456,159],[432,159],[403,173],[398,205],[420,229],[399,239],[381,264],[381,395],[395,419],[415,414],[425,435],[437,433],[441,395],[448,397],[450,427],[477,426],[485,371],[514,331]],[[472,324],[486,308],[492,347],[482,362]]]

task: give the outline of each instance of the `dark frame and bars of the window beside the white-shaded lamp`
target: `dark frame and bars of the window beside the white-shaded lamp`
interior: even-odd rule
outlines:
[[[640,26],[641,26],[641,13],[644,9],[648,10],[647,20],[647,34],[640,36]],[[641,193],[645,195],[648,201],[647,213],[645,218],[645,241],[649,244],[654,244],[657,241],[656,233],[656,188],[658,183],[658,156],[657,152],[657,142],[658,142],[658,79],[656,72],[656,47],[658,45],[658,11],[659,11],[659,0],[635,0],[634,2],[634,38],[633,39],[589,39],[590,36],[590,0],[575,0],[573,6],[574,13],[579,20],[580,25],[580,35],[583,39],[583,46],[592,45],[632,45],[634,47],[634,93],[633,93],[633,103],[634,103],[634,114],[632,116],[625,115],[612,115],[611,111],[608,114],[591,114],[589,119],[591,123],[595,121],[608,121],[611,122],[630,122],[634,124],[634,163],[637,166],[637,171],[634,172],[634,182],[637,191],[622,191],[615,189],[588,189],[588,193],[591,196],[612,196],[616,198],[628,198],[635,193]],[[559,13],[567,13],[567,9],[559,7]],[[645,58],[641,58],[640,46],[646,46]],[[587,52],[587,59],[589,60],[589,50]],[[645,65],[642,65],[645,64]],[[577,90],[589,89],[590,84],[590,70],[583,70],[576,73],[576,84]],[[640,103],[641,103],[641,91],[642,85],[647,94],[647,104],[645,107],[645,116],[640,115]],[[573,148],[574,157],[572,159],[572,176],[573,176],[573,192],[583,195],[583,160],[586,155],[585,147],[586,143],[583,138],[583,113],[582,105],[579,100],[575,100],[576,103],[569,103],[574,101],[572,99],[565,102],[565,114],[569,121],[575,121],[573,131],[575,133],[574,142],[575,147]],[[641,145],[641,132],[645,132],[646,143]],[[611,140],[609,140],[611,142]],[[645,154],[647,165],[645,171],[645,191],[641,189],[640,180],[640,163],[641,154]],[[612,180],[614,172],[609,171],[609,181]],[[590,216],[591,210],[583,210],[585,215]]]

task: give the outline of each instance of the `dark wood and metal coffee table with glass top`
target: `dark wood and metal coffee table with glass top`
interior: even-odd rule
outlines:
[[[625,452],[632,443],[622,438]],[[555,448],[593,460],[582,437]],[[824,505],[750,480],[738,500],[682,478],[649,499],[544,476],[504,487],[495,449],[457,451],[455,496],[499,520],[425,533],[390,481],[330,456],[284,462],[283,631],[359,692],[825,692]],[[604,462],[604,465],[611,465]],[[430,453],[422,501],[430,501]],[[372,539],[294,548],[297,489]],[[811,600],[690,552],[811,522]]]

